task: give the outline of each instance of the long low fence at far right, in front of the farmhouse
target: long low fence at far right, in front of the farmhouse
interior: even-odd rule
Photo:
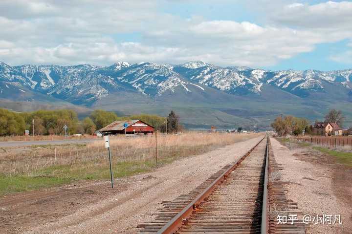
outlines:
[[[352,136],[297,136],[296,140],[326,148],[342,148],[352,150]]]

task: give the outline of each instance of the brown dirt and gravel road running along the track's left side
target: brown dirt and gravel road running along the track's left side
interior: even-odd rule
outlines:
[[[178,160],[151,173],[109,182],[85,182],[0,199],[5,233],[135,233],[163,200],[197,187],[214,171],[241,157],[263,136]]]

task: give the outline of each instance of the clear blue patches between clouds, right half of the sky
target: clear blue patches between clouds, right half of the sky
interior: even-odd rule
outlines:
[[[305,1],[299,2],[305,3]],[[308,4],[315,5],[325,2],[326,1],[322,0],[310,0]],[[335,2],[342,1],[340,0]],[[243,1],[223,1],[218,4],[214,4],[211,1],[205,1],[202,4],[199,4],[198,1],[188,4],[184,4],[182,1],[174,1],[163,8],[163,11],[183,18],[190,18],[198,15],[204,17],[206,20],[249,21],[260,26],[263,26],[266,23],[265,12],[253,8],[251,3],[243,4]],[[316,43],[313,50],[310,52],[302,52],[290,59],[282,60],[273,65],[260,67],[271,70],[351,69],[351,60],[350,62],[336,62],[331,59],[331,56],[334,54],[340,54],[351,49],[348,45],[351,43],[350,40],[341,38],[341,40],[338,40],[337,42]]]

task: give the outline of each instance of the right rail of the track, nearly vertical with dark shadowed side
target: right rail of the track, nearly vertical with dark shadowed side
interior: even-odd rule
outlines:
[[[266,234],[269,230],[269,194],[268,194],[268,179],[269,179],[269,135],[267,135],[266,150],[265,150],[265,170],[264,170],[264,187],[263,187],[263,205],[262,205],[262,224],[261,233]]]

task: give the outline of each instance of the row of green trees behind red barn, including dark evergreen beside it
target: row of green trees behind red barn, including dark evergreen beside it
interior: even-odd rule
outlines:
[[[66,125],[67,134],[94,134],[96,130],[104,128],[113,121],[139,119],[155,127],[156,130],[165,132],[177,132],[182,126],[174,111],[171,111],[168,118],[158,115],[139,114],[131,116],[117,116],[115,112],[106,110],[94,110],[83,120],[78,119],[74,110],[37,110],[33,112],[14,112],[0,108],[0,135],[22,135],[24,130],[33,130],[36,135],[62,135]]]

